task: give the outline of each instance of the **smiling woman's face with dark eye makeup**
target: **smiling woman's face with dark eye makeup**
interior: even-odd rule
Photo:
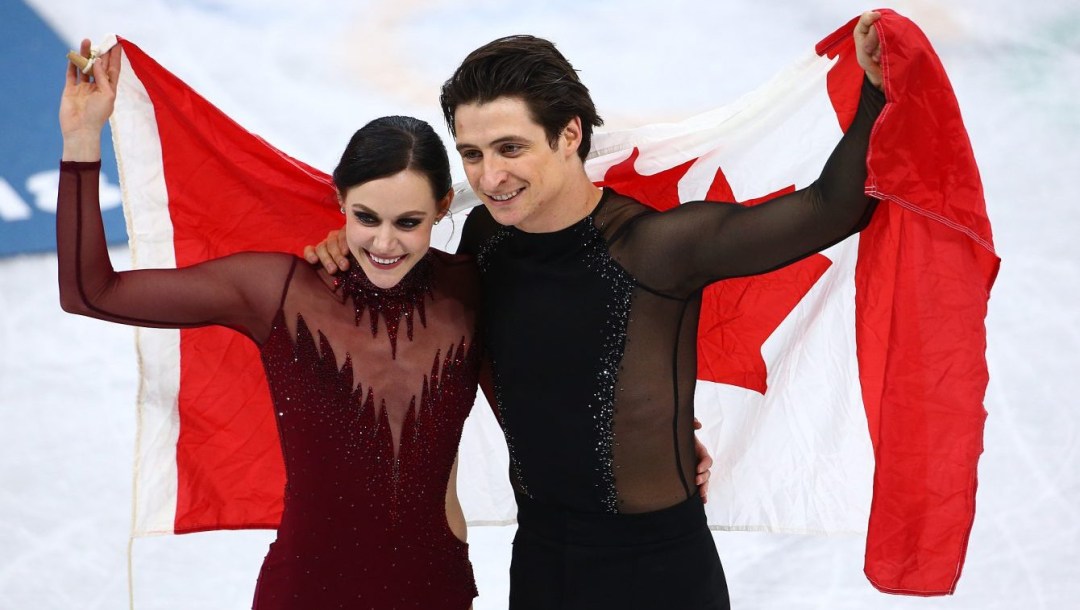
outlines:
[[[396,286],[423,258],[431,228],[449,207],[451,193],[436,202],[428,179],[411,170],[346,192],[346,241],[373,284]]]

